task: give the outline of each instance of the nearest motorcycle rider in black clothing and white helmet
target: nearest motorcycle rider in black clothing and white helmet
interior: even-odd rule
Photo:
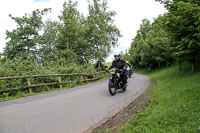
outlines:
[[[126,74],[127,65],[124,60],[120,59],[120,57],[121,57],[121,54],[119,53],[114,54],[115,60],[112,62],[112,65],[110,66],[110,68],[106,70],[106,72],[109,72],[109,70],[112,68],[122,69],[123,71],[120,72],[120,77],[123,84],[127,85],[127,74]]]

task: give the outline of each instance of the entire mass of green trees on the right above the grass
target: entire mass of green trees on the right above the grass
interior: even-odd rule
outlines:
[[[129,61],[148,70],[169,65],[192,63],[192,71],[200,53],[200,2],[198,0],[156,0],[168,12],[152,24],[143,20],[129,49]],[[144,23],[145,22],[145,23]],[[148,30],[147,30],[148,29]]]

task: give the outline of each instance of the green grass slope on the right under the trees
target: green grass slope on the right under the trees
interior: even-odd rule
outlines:
[[[137,72],[137,71],[136,71]],[[121,133],[200,133],[200,71],[190,72],[184,65],[148,73],[157,79],[150,104],[135,115]]]

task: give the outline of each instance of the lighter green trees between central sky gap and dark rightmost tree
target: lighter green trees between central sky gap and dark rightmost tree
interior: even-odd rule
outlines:
[[[165,17],[158,17],[153,24],[144,19],[129,49],[129,61],[135,67],[152,69],[171,62],[170,36],[163,27]]]

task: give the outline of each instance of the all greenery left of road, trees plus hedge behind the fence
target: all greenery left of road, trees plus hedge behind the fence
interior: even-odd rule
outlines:
[[[51,11],[47,8],[34,10],[32,14],[22,17],[9,15],[17,23],[17,28],[6,32],[8,42],[0,54],[0,77],[101,70],[99,67],[121,36],[113,23],[115,12],[107,11],[105,0],[89,2],[87,17],[80,15],[76,8],[77,2],[65,1],[59,21],[48,19],[43,22],[43,15]],[[52,77],[34,78],[31,83],[57,80]],[[80,77],[65,77],[64,80],[77,81]],[[26,79],[0,81],[0,89],[19,86],[27,86]],[[44,87],[36,91],[41,89]],[[7,97],[9,93],[4,95]]]

